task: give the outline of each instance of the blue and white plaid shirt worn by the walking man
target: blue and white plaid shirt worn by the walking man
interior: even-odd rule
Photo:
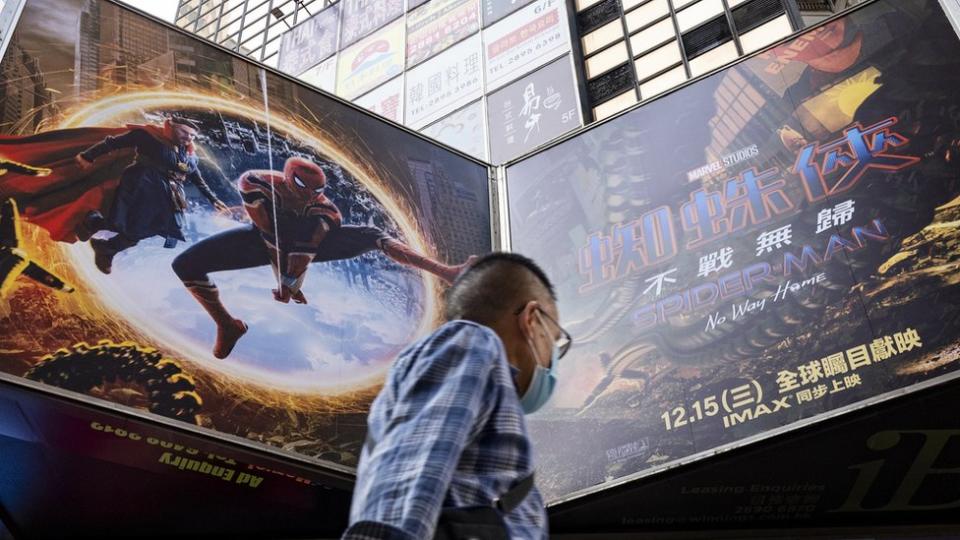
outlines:
[[[394,362],[367,419],[344,540],[428,540],[441,507],[491,506],[533,471],[513,372],[489,328],[452,321]],[[533,488],[504,516],[510,537],[547,538]]]

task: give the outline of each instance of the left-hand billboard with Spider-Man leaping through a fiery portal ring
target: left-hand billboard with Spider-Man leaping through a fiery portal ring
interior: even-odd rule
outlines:
[[[0,112],[0,370],[354,465],[490,249],[488,169],[112,2],[31,0],[0,67],[31,98]]]

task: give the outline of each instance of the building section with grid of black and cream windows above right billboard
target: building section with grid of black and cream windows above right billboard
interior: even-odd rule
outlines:
[[[575,0],[594,120],[799,29],[791,0]]]

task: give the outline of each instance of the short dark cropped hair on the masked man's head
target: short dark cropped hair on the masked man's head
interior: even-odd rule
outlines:
[[[493,325],[530,300],[557,300],[553,284],[537,263],[518,253],[495,252],[477,259],[447,290],[447,320]]]

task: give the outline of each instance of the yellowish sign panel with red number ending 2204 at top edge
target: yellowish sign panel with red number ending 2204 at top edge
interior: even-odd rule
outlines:
[[[407,14],[407,69],[480,29],[478,0],[433,0]]]

